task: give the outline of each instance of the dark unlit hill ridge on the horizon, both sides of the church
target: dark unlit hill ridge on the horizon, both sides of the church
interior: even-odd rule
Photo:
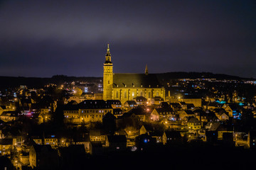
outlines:
[[[171,79],[235,79],[249,80],[248,78],[230,76],[226,74],[213,74],[210,72],[167,72],[156,74],[161,81],[169,81]],[[68,77],[65,75],[55,75],[49,78],[40,77],[0,77],[0,89],[14,88],[20,85],[26,85],[28,88],[41,88],[46,84],[63,84],[71,81],[87,81],[95,82],[102,80],[102,77]],[[255,80],[255,79],[250,79]]]

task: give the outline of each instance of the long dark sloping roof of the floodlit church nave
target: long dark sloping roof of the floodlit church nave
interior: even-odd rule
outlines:
[[[149,88],[149,86],[150,88],[161,88],[156,74],[115,73],[113,74],[113,84],[113,88]]]

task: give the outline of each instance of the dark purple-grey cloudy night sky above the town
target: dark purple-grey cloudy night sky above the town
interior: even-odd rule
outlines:
[[[256,78],[256,1],[0,1],[0,76],[213,72]]]

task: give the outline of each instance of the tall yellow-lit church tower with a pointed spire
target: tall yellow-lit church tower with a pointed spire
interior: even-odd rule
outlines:
[[[103,65],[103,100],[112,100],[113,64],[111,62],[110,45],[107,44],[107,54]]]

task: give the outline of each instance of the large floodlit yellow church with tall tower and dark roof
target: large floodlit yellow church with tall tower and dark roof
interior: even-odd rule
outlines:
[[[155,74],[149,74],[146,66],[144,74],[113,73],[110,46],[103,70],[103,100],[119,100],[122,104],[132,101],[137,96],[144,96],[148,100],[155,97],[165,97],[164,87],[159,84]]]

